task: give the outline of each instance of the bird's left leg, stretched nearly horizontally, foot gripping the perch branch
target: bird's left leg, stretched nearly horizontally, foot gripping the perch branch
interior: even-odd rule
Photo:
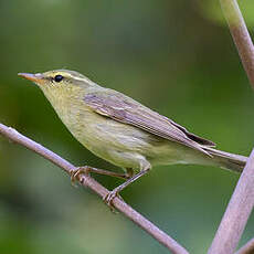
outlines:
[[[104,174],[104,176],[109,176],[109,177],[116,177],[116,178],[121,178],[121,179],[129,179],[131,177],[131,174],[129,173],[129,171],[127,170],[126,173],[118,173],[118,172],[113,172],[113,171],[107,171],[107,170],[103,170],[103,169],[96,169],[96,168],[92,168],[88,166],[84,166],[84,167],[77,167],[73,170],[71,170],[70,174],[71,174],[71,181],[72,184],[75,183],[75,181],[81,181],[81,174],[86,174],[88,176],[91,172],[94,173],[98,173],[98,174]]]

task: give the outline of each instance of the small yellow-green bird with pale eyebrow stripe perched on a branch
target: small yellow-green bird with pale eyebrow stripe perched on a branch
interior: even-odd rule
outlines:
[[[241,172],[246,163],[246,157],[216,150],[213,141],[78,72],[54,70],[18,75],[41,88],[84,147],[124,170],[118,173],[86,166],[72,171],[72,180],[89,172],[125,179],[104,198],[109,207],[123,189],[157,165],[203,165]]]

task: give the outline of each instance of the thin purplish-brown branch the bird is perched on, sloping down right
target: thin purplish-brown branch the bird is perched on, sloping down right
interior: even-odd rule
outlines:
[[[50,160],[54,165],[62,168],[65,172],[70,174],[70,171],[75,167],[57,156],[53,151],[46,149],[40,144],[27,138],[25,136],[19,134],[15,129],[7,127],[0,124],[0,134],[10,140],[36,152],[38,155],[44,157],[46,160]],[[108,190],[95,181],[93,178],[88,176],[81,176],[81,184],[84,187],[88,187],[99,197],[105,197],[108,194]],[[177,243],[172,237],[162,232],[159,227],[148,221],[140,213],[136,212],[133,208],[130,208],[127,203],[125,203],[121,199],[115,198],[113,200],[114,207],[125,214],[128,219],[130,219],[134,223],[145,230],[148,234],[150,234],[154,239],[156,239],[159,243],[165,245],[171,253],[173,254],[188,254],[188,251],[183,248],[179,243]]]

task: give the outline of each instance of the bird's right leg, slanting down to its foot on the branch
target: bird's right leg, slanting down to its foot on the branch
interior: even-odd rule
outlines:
[[[118,193],[120,191],[123,191],[127,186],[129,186],[130,183],[135,182],[137,179],[139,179],[140,177],[142,177],[144,174],[146,174],[148,171],[150,170],[150,166],[146,167],[145,169],[141,169],[141,171],[139,171],[137,174],[133,176],[131,178],[129,178],[126,182],[124,182],[123,184],[118,186],[117,188],[115,188],[113,191],[110,191],[105,198],[104,201],[107,205],[109,205],[109,208],[114,211],[113,209],[113,204],[112,201],[114,198],[116,198],[118,195]],[[133,170],[131,170],[133,171]],[[128,172],[128,171],[127,171]]]

